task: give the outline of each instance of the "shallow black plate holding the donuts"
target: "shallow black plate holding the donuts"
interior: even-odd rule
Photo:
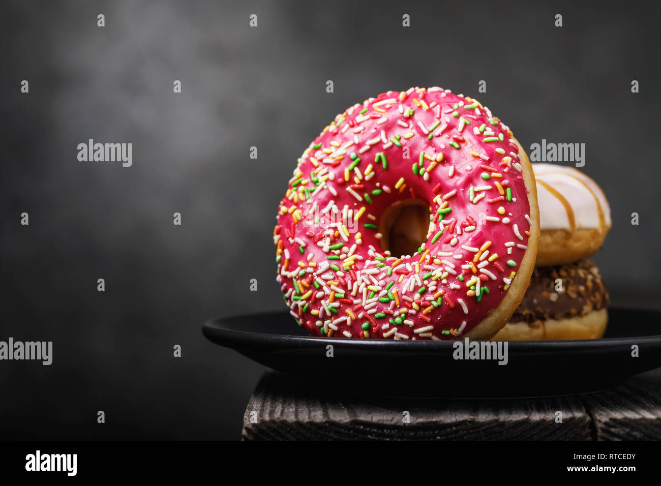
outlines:
[[[661,311],[652,310],[609,309],[603,339],[511,341],[506,365],[456,360],[448,341],[309,337],[286,311],[215,319],[203,331],[214,343],[309,384],[366,395],[568,395],[606,389],[661,366]]]

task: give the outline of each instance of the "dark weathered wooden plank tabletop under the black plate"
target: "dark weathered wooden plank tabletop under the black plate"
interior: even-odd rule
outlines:
[[[242,435],[244,440],[659,440],[661,368],[599,393],[488,400],[341,396],[267,371],[248,403]]]

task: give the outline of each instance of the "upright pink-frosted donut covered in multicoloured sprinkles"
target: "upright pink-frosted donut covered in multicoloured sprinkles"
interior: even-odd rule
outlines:
[[[399,208],[424,211],[422,237],[402,235],[419,216]],[[422,242],[391,255],[402,236]],[[489,339],[524,296],[538,239],[524,150],[488,108],[439,87],[336,116],[298,159],[274,230],[299,325],[376,339]]]

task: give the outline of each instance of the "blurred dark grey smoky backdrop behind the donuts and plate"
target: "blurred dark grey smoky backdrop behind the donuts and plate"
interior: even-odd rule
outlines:
[[[658,7],[531,4],[4,3],[0,339],[54,341],[54,364],[0,362],[0,437],[239,438],[261,368],[200,327],[284,309],[271,235],[296,158],[388,89],[473,95],[526,149],[586,143],[613,304],[659,307]],[[89,138],[132,142],[133,167],[77,161]]]

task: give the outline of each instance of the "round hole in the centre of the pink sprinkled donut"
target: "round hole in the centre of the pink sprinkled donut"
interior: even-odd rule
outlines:
[[[420,199],[397,201],[381,215],[381,249],[393,256],[413,255],[426,242],[430,206]]]

